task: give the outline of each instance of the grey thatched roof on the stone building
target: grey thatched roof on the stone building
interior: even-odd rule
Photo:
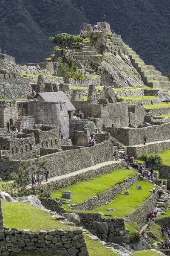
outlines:
[[[62,102],[66,104],[67,111],[75,111],[74,105],[69,101],[65,93],[59,92],[49,92],[49,93],[37,93],[34,98],[40,96],[45,102]]]

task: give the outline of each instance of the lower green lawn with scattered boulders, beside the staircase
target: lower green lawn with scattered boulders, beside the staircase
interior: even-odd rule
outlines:
[[[141,185],[142,189],[136,189],[136,186]],[[125,191],[121,191],[119,195],[114,198],[112,202],[108,205],[102,205],[94,210],[89,210],[88,212],[103,212],[104,214],[108,213],[106,208],[113,208],[116,211],[111,212],[113,216],[125,217],[130,212],[133,212],[137,207],[139,207],[143,202],[150,197],[151,192],[149,189],[153,189],[153,184],[148,183],[144,180],[138,180],[133,186]],[[156,188],[156,187],[155,187]],[[121,195],[121,193],[129,190],[130,195]]]

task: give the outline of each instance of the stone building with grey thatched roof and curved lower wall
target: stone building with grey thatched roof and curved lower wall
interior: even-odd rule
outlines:
[[[28,104],[28,115],[35,116],[35,125],[53,125],[64,138],[69,136],[69,118],[73,118],[74,106],[65,93],[37,93],[37,101]]]

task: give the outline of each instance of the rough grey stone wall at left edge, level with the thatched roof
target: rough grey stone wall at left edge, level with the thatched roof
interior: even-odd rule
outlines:
[[[32,94],[29,79],[17,74],[1,74],[0,85],[1,99],[27,98]]]

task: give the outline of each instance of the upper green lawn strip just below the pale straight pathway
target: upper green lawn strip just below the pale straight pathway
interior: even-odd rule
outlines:
[[[54,191],[51,196],[53,198],[62,198],[62,191],[72,191],[73,196],[71,198],[71,204],[79,204],[80,202],[96,196],[101,192],[111,189],[127,177],[134,177],[135,175],[136,172],[132,170],[119,169],[108,174],[98,175],[90,180],[77,182],[76,184],[64,189]]]

